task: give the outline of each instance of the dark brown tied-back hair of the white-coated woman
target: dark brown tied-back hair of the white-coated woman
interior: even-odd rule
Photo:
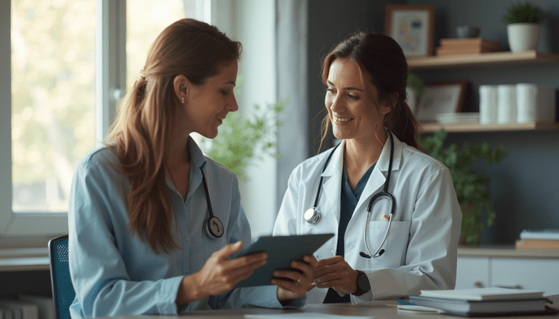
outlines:
[[[417,143],[419,122],[406,103],[407,62],[400,45],[384,34],[365,32],[354,34],[336,45],[323,60],[322,82],[325,85],[330,66],[335,59],[354,61],[365,73],[365,77],[368,77],[368,80],[377,87],[379,101],[389,101],[391,96],[398,94],[398,101],[395,104],[390,103],[393,107],[384,117],[384,126],[389,129],[389,132],[394,133],[398,140],[419,149]],[[330,121],[326,113],[321,123],[320,146],[326,138]]]

